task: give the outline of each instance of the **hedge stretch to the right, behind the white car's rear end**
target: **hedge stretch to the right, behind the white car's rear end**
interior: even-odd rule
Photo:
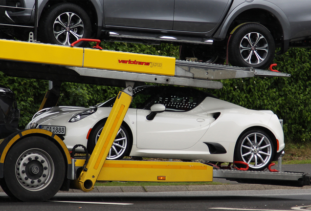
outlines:
[[[272,110],[284,120],[285,139],[311,141],[311,50],[292,48],[276,56],[275,69],[290,78],[222,80],[223,88],[213,91],[222,100],[250,109]]]

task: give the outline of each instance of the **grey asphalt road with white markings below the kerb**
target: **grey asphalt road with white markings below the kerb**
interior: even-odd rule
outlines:
[[[1,211],[307,211],[311,189],[144,193],[57,193],[42,203],[0,193]]]

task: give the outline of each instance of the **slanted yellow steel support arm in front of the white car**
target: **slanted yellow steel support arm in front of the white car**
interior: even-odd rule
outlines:
[[[114,138],[121,127],[131,102],[132,96],[123,91],[119,92],[106,124],[89,158],[89,163],[86,166],[88,170],[83,170],[79,176],[77,186],[80,190],[88,192],[94,189],[94,184],[105,163]]]

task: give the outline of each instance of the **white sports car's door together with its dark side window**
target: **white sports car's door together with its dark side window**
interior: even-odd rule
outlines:
[[[186,149],[204,135],[210,125],[207,113],[198,106],[204,98],[183,90],[152,95],[149,106],[165,105],[165,111],[153,120],[146,119],[151,110],[137,109],[137,148]]]

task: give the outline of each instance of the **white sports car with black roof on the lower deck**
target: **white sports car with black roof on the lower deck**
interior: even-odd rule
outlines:
[[[47,129],[63,136],[69,150],[82,144],[91,152],[114,100],[94,107],[46,108],[26,128]],[[139,86],[107,159],[244,161],[262,170],[284,147],[283,129],[272,111],[246,109],[187,87]]]

